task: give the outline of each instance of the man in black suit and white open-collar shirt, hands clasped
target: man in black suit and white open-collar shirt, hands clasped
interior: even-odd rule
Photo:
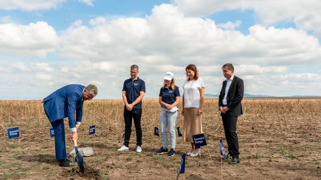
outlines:
[[[219,95],[219,110],[221,111],[225,138],[228,144],[228,155],[232,156],[229,164],[238,164],[240,160],[236,122],[238,116],[243,114],[241,101],[244,95],[244,83],[241,78],[234,76],[232,64],[224,64],[222,70],[226,80],[223,81]]]

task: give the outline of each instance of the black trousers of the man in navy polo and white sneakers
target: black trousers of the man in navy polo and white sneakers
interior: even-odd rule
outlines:
[[[142,127],[140,124],[142,118],[141,109],[132,109],[131,111],[124,108],[124,120],[125,120],[125,142],[124,145],[128,147],[130,134],[132,132],[132,121],[134,118],[134,125],[136,128],[136,140],[137,146],[142,146]]]

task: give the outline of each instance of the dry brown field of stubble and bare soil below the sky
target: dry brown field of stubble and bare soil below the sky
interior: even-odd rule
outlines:
[[[213,164],[202,147],[201,157],[187,157],[185,179],[321,179],[320,99],[242,103],[244,115],[237,130],[241,163],[221,163],[218,144],[224,130],[218,100],[206,100],[202,121]],[[153,136],[154,126],[159,127],[158,101],[143,101],[142,153],[135,152],[134,126],[130,150],[117,151],[123,143],[123,108],[120,100],[85,102],[78,146],[90,146],[95,152],[84,158],[93,170],[88,174],[79,172],[77,165],[58,166],[41,101],[0,101],[0,179],[175,179],[180,155],[189,151],[189,144],[177,136],[175,156],[155,153],[161,147],[160,138]],[[88,135],[91,125],[96,125],[95,137]],[[8,139],[7,128],[17,126],[20,138]],[[184,126],[182,116],[177,126]],[[66,146],[67,152],[73,149],[69,140]]]

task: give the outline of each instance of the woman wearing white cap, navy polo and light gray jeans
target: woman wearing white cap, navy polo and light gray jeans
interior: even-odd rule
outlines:
[[[160,88],[159,102],[160,108],[160,132],[163,146],[156,151],[156,153],[164,154],[168,153],[168,142],[167,142],[167,132],[168,127],[169,139],[170,139],[170,151],[169,156],[174,156],[175,154],[175,144],[176,144],[176,120],[177,120],[177,110],[176,107],[179,103],[179,90],[178,86],[175,85],[174,74],[172,72],[166,72],[164,76],[164,85]]]

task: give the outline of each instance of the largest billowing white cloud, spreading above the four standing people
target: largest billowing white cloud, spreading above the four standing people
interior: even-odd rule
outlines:
[[[100,23],[96,23],[100,22]],[[279,66],[319,64],[318,39],[305,31],[255,25],[249,35],[223,31],[213,20],[186,17],[177,6],[162,4],[145,18],[97,18],[92,27],[71,26],[60,37],[58,55],[90,61],[141,61]],[[295,37],[295,38],[294,38]],[[170,63],[169,63],[170,64]]]

